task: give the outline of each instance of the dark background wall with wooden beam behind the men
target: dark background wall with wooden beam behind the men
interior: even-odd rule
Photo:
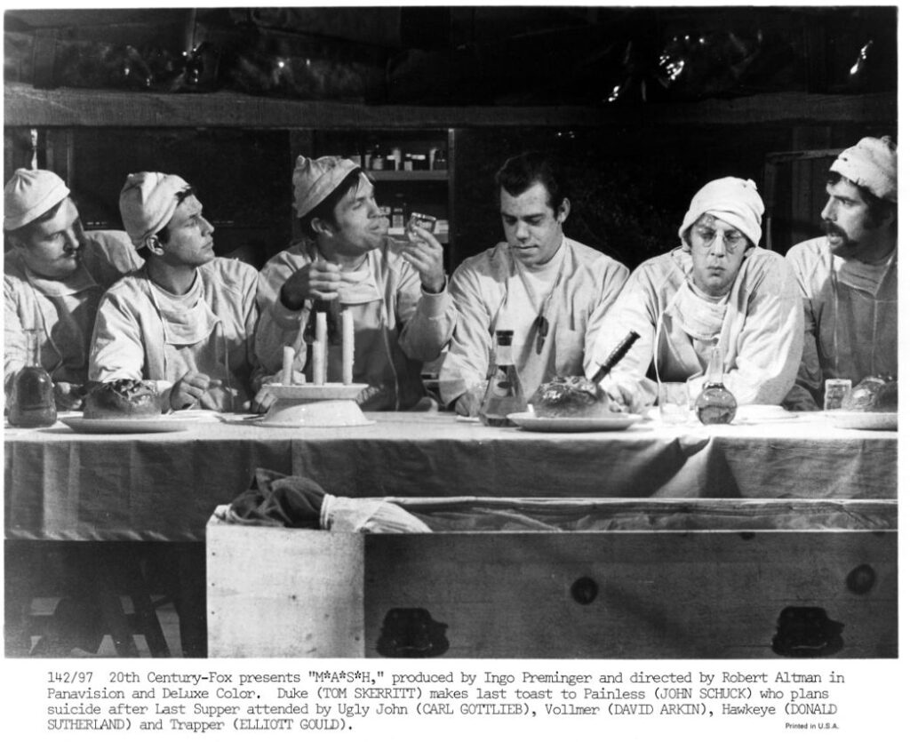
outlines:
[[[447,182],[407,187],[450,220],[451,269],[501,239],[493,174],[524,149],[564,159],[567,233],[634,267],[725,175],[755,180],[785,251],[830,152],[896,135],[893,6],[20,10],[4,31],[5,178],[56,168],[115,227],[126,173],[180,173],[219,251],[257,263],[292,237],[294,158],[375,136],[451,142]]]

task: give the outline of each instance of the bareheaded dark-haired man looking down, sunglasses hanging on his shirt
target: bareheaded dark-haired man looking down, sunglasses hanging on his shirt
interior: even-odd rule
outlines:
[[[452,276],[458,323],[440,369],[442,400],[474,416],[496,330],[512,330],[527,396],[554,376],[582,373],[591,341],[629,275],[598,250],[568,239],[565,178],[555,160],[527,152],[496,175],[505,241],[466,259]]]

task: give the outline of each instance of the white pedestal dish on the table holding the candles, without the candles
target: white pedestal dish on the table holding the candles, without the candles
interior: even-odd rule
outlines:
[[[278,398],[255,424],[271,428],[342,428],[372,425],[357,403],[367,384],[263,384]]]

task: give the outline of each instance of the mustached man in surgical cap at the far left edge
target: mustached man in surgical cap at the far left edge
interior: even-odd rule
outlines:
[[[58,409],[81,405],[101,295],[142,260],[122,231],[85,231],[66,183],[20,168],[4,188],[4,384],[26,358],[25,330],[55,384]]]

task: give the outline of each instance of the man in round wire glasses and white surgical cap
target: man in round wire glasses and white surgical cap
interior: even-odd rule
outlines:
[[[632,272],[603,323],[589,376],[629,330],[640,335],[602,386],[633,408],[661,381],[702,390],[713,348],[740,404],[780,404],[803,348],[799,287],[784,256],[759,247],[764,204],[752,180],[720,178],[692,200],[682,244]]]

